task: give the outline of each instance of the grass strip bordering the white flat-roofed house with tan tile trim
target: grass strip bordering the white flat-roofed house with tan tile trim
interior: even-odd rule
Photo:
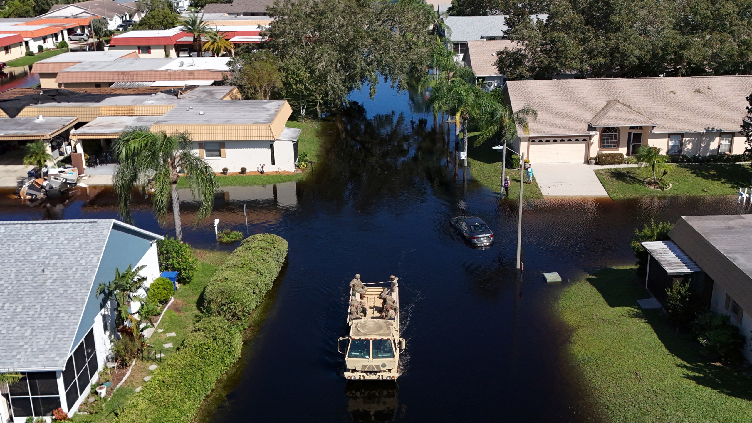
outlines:
[[[298,138],[298,154],[305,151],[308,153],[308,160],[318,162],[319,150],[321,148],[321,138],[319,135],[320,125],[318,122],[308,120],[305,123],[290,120],[287,122],[290,128],[300,128],[300,137]],[[317,163],[314,166],[321,166]],[[311,165],[308,165],[311,166]],[[268,185],[282,184],[283,182],[299,181],[308,177],[308,172],[296,173],[295,175],[218,175],[217,182],[220,187],[239,187],[249,185]],[[177,180],[178,188],[189,187],[187,181],[183,178]]]

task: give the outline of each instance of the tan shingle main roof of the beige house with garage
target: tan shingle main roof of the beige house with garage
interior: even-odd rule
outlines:
[[[618,100],[655,121],[656,132],[738,132],[752,76],[508,81],[512,109],[530,105],[531,135],[575,135],[606,102]]]

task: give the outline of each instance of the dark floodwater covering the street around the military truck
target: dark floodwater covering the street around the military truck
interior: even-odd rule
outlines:
[[[514,269],[517,203],[453,181],[432,117],[407,94],[381,87],[378,100],[355,104],[325,125],[327,142],[313,181],[227,188],[212,218],[187,226],[199,248],[220,227],[271,232],[290,242],[287,274],[253,341],[230,378],[226,400],[208,418],[224,421],[593,421],[578,374],[562,358],[568,331],[553,313],[566,286],[584,272],[634,261],[629,240],[650,218],[740,212],[732,197],[678,197],[614,202],[547,199],[524,204],[523,263]],[[420,100],[420,98],[417,98]],[[325,164],[326,163],[326,164]],[[29,208],[6,197],[3,219],[114,218],[109,190],[79,189],[65,204]],[[447,225],[478,215],[496,245],[473,249]],[[157,233],[146,202],[135,223]],[[348,385],[335,341],[344,325],[347,281],[402,282],[408,350],[397,384]],[[211,413],[210,413],[211,414]]]

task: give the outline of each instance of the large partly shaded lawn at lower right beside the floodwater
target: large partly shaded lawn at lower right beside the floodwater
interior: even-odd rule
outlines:
[[[752,376],[708,362],[675,332],[634,267],[604,269],[570,285],[557,308],[574,332],[568,355],[606,421],[752,421]]]

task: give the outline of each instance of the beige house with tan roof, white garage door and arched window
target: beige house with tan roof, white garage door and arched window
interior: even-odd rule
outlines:
[[[538,111],[514,148],[537,163],[583,163],[599,152],[741,154],[752,76],[508,81],[513,111]]]

